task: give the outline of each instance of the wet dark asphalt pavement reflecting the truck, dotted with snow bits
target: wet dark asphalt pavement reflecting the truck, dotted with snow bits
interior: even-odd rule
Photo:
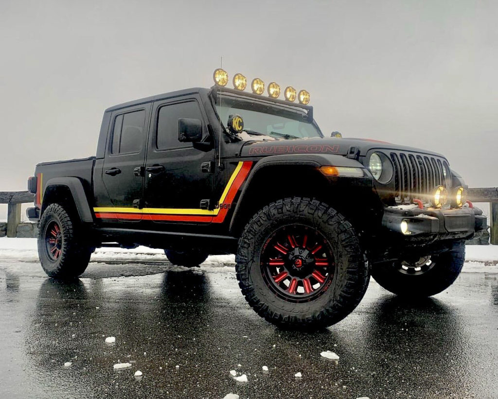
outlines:
[[[297,333],[259,318],[231,268],[91,264],[72,284],[40,269],[0,261],[1,398],[498,398],[498,275],[418,303],[372,281],[345,320]]]

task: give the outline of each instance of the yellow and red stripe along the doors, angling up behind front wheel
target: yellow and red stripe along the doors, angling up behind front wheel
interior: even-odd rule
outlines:
[[[131,208],[131,207],[95,207],[95,216],[99,219],[128,220],[163,220],[182,222],[222,223],[232,207],[235,196],[249,175],[251,161],[239,162],[223,194],[218,206],[213,209],[181,209],[181,208]]]

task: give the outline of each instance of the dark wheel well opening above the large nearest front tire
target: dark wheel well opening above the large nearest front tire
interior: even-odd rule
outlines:
[[[372,187],[339,185],[313,167],[272,166],[259,171],[249,181],[234,215],[231,234],[239,237],[257,210],[277,199],[289,197],[315,198],[325,202],[342,213],[358,231],[368,230],[382,209]]]

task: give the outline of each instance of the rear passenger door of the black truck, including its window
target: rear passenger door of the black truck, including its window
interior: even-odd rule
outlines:
[[[111,220],[142,218],[146,137],[151,104],[126,108],[112,114],[102,179],[109,200],[96,214]]]

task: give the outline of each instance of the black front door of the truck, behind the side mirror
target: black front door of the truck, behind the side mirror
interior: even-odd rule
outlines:
[[[200,119],[203,142],[180,142],[178,118]],[[208,201],[212,200],[214,146],[206,120],[197,96],[153,104],[145,162],[144,218],[159,223],[211,222],[213,204]]]

